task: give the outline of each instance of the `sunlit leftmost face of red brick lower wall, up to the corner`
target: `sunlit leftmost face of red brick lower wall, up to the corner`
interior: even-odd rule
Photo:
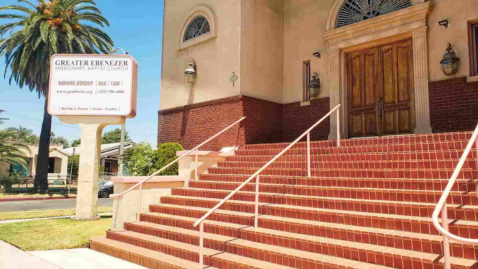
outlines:
[[[243,117],[239,95],[186,105],[158,112],[158,144],[177,142],[192,149]],[[239,123],[219,135],[202,150],[244,145],[244,128]]]

